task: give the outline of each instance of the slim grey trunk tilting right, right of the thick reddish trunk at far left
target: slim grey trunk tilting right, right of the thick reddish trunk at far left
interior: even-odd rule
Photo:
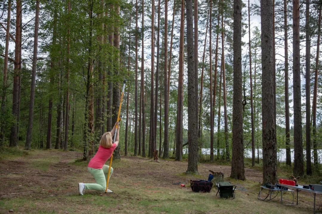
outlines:
[[[37,49],[38,49],[38,26],[39,26],[39,0],[36,1],[35,29],[33,39],[33,67],[31,73],[30,101],[29,101],[29,121],[27,129],[27,137],[25,149],[31,147],[31,135],[33,132],[33,106],[35,101],[35,85],[36,85],[36,68],[37,68]]]

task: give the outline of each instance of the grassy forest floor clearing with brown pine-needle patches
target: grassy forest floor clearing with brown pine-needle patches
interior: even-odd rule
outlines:
[[[247,180],[238,181],[229,178],[230,166],[201,163],[200,175],[193,176],[184,173],[186,161],[156,163],[131,156],[113,161],[109,189],[114,193],[86,190],[81,196],[77,184],[94,179],[80,158],[80,152],[60,150],[1,157],[0,213],[313,213],[313,197],[307,193],[299,193],[298,206],[281,205],[280,196],[259,201],[262,172],[256,169],[245,168]],[[215,186],[210,193],[192,192],[190,179],[207,179],[209,169],[237,185],[235,199],[220,199]],[[186,186],[172,184],[177,182]],[[322,211],[320,195],[317,208]]]

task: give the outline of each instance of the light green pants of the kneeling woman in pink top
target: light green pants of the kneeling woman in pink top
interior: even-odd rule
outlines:
[[[94,169],[91,167],[87,167],[87,171],[93,175],[95,178],[96,184],[85,184],[86,190],[97,190],[100,192],[104,192],[106,189],[106,181],[107,181],[107,174],[109,173],[109,166],[104,165],[103,169]],[[113,173],[113,168],[111,167],[111,172],[109,177],[111,177]]]

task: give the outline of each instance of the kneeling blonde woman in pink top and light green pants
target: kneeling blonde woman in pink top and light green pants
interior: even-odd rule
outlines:
[[[79,183],[78,189],[81,195],[84,194],[85,189],[97,190],[100,192],[105,191],[107,175],[109,172],[109,166],[105,165],[105,162],[112,156],[113,151],[118,146],[118,141],[119,141],[119,128],[116,134],[115,142],[113,143],[112,141],[112,136],[115,133],[116,125],[118,125],[118,122],[114,125],[112,131],[106,132],[102,135],[102,138],[99,141],[99,150],[96,152],[95,156],[88,163],[87,171],[89,171],[90,174],[93,175],[93,177],[95,178],[96,184]],[[112,173],[113,173],[113,168],[111,167],[111,172],[109,174],[109,177],[112,175]],[[107,190],[107,192],[112,193],[112,191],[110,191],[109,189]]]

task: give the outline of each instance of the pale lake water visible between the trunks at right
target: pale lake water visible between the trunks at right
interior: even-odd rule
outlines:
[[[222,150],[220,151],[222,152]],[[184,154],[188,153],[188,149],[183,150]],[[204,155],[210,155],[210,148],[203,148],[202,153]],[[214,156],[217,155],[217,149],[214,149],[213,151]],[[262,158],[263,152],[262,149],[259,149],[259,156]],[[306,150],[303,150],[304,159],[306,158]],[[318,161],[319,163],[322,163],[322,150],[317,150],[318,155]],[[244,157],[245,158],[251,158],[251,149],[245,149],[244,150]],[[257,158],[257,149],[255,149],[255,158]],[[286,149],[279,149],[277,152],[277,159],[279,162],[285,162],[286,161]],[[311,150],[311,159],[313,162],[313,150]],[[294,162],[294,149],[291,149],[291,160]]]

